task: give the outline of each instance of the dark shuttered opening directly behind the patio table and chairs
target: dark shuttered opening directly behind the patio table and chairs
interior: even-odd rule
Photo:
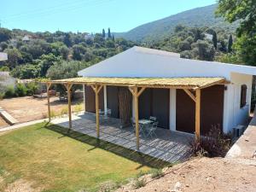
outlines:
[[[170,90],[146,89],[139,97],[139,119],[154,116],[159,127],[169,129]]]

